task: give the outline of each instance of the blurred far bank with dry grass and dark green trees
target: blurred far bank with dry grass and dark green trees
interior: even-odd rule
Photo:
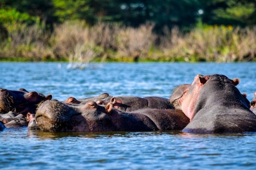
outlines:
[[[0,0],[0,60],[255,61],[255,0]]]

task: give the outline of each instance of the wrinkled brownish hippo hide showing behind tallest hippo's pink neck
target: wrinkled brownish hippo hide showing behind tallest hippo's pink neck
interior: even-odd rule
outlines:
[[[188,89],[191,84],[183,84],[177,86],[170,97],[170,103],[174,106],[177,110],[181,109],[181,103],[183,101],[184,96],[186,96],[186,93],[188,92]]]

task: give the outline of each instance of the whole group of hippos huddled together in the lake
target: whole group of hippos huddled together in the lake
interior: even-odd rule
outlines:
[[[197,75],[162,97],[110,96],[63,102],[25,89],[0,88],[0,130],[28,126],[52,132],[182,130],[187,133],[256,131],[256,93],[249,102],[239,79]]]

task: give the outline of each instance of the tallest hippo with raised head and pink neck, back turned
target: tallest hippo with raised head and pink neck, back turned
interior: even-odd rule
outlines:
[[[197,75],[183,96],[181,108],[190,119],[188,133],[241,133],[256,131],[256,115],[239,92],[239,79],[220,74]]]

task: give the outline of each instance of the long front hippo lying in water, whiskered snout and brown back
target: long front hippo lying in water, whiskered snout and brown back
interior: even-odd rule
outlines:
[[[91,101],[74,106],[55,99],[38,107],[35,120],[41,130],[52,132],[181,130],[189,123],[182,111],[142,109],[128,113],[111,103],[103,106]]]

